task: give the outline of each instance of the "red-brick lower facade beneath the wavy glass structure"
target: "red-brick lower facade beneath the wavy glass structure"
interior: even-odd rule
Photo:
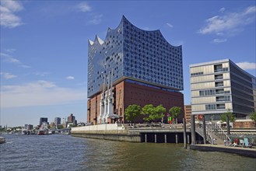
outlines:
[[[153,104],[154,106],[162,104],[166,107],[167,112],[172,106],[180,106],[181,109],[184,109],[184,96],[181,92],[170,92],[153,86],[126,82],[125,80],[113,86],[113,98],[113,111],[121,116],[117,121],[124,123],[126,123],[124,110],[131,104],[137,104],[142,107],[146,104]],[[87,109],[87,122],[96,124],[96,116],[99,116],[100,113],[100,94],[88,100]],[[182,111],[178,121],[181,122],[183,117],[184,111]],[[110,123],[113,121],[108,119]],[[142,117],[135,121],[135,123],[139,122],[143,122]]]

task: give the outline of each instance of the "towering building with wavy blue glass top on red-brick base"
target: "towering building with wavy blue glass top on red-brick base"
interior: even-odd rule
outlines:
[[[169,44],[160,30],[141,30],[123,16],[105,40],[89,40],[87,122],[125,122],[131,104],[183,109],[182,89],[182,48]]]

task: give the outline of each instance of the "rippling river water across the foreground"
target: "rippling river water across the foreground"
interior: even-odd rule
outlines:
[[[183,144],[130,143],[70,135],[4,134],[0,170],[256,170],[256,159]]]

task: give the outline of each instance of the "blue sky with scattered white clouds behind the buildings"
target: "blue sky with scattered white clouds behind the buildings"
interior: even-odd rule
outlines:
[[[255,1],[1,0],[0,124],[86,122],[88,40],[104,40],[122,15],[183,46],[185,104],[190,64],[230,58],[255,76],[255,12]]]

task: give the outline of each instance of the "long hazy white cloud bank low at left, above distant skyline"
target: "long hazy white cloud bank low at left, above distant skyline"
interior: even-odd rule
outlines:
[[[1,107],[46,106],[84,100],[86,89],[58,87],[54,82],[37,81],[24,85],[1,86]]]

